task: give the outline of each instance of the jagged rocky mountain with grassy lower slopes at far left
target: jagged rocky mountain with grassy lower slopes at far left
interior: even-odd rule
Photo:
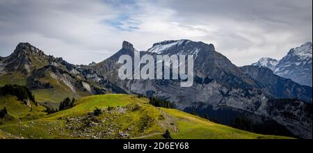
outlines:
[[[1,58],[0,86],[9,83],[27,86],[40,101],[45,102],[114,92],[113,84],[86,71],[63,58],[47,56],[44,51],[23,42],[17,45],[13,54]]]

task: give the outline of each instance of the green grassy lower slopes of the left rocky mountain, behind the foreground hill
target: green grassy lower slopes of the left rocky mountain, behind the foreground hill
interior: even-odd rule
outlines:
[[[76,88],[73,85],[74,81],[82,81],[81,77],[64,77],[63,74],[57,74],[47,69],[45,70],[44,75],[41,78],[36,78],[36,80],[40,81],[42,84],[49,83],[49,85],[53,88],[31,88],[32,85],[30,84],[33,83],[33,81],[27,81],[27,78],[29,77],[29,75],[25,75],[19,72],[10,72],[8,74],[1,75],[0,87],[6,86],[8,84],[26,86],[31,90],[33,95],[35,95],[35,99],[38,102],[47,102],[51,106],[58,106],[58,104],[60,104],[60,102],[62,102],[66,97],[74,97],[78,99],[79,97],[92,95],[87,90],[79,90],[79,88]],[[93,86],[97,86],[99,88],[96,83],[93,83]]]

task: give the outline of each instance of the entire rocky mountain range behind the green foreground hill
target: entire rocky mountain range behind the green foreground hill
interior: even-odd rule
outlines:
[[[301,49],[294,49],[293,53],[298,50]],[[127,54],[134,58],[135,51],[138,50],[125,41],[122,49],[100,63],[73,65],[45,55],[29,43],[20,43],[13,54],[0,58],[0,86],[8,83],[26,86],[39,102],[49,106],[57,106],[65,97],[106,93],[159,97],[182,111],[209,115],[223,124],[232,125],[234,120],[245,118],[250,131],[312,138],[310,86],[279,77],[266,67],[237,67],[218,53],[214,45],[191,40],[166,40],[141,51],[141,56],[192,54],[194,83],[190,88],[180,87],[179,80],[120,80],[119,57]],[[287,58],[279,63],[282,61]],[[261,125],[273,129],[260,129]]]

